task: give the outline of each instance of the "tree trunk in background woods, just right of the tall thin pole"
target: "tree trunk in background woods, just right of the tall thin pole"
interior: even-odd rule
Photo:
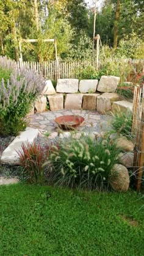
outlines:
[[[113,31],[113,48],[116,49],[118,45],[118,21],[120,19],[120,0],[117,0],[117,9],[115,12],[114,31]]]

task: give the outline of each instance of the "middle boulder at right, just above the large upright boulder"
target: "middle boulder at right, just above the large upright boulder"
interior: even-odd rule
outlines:
[[[125,167],[132,167],[134,163],[134,153],[132,152],[125,152],[120,153],[118,156],[118,161],[120,164],[123,164]]]

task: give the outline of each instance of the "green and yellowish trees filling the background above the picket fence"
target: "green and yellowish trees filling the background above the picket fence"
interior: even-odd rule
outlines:
[[[35,38],[37,43],[23,43],[23,59],[54,59],[54,45],[43,43],[45,38],[54,38],[59,58],[88,59],[92,57],[93,16],[93,8],[84,0],[0,0],[0,54],[18,60],[21,38]],[[96,34],[115,53],[135,43],[141,47],[143,20],[143,0],[104,0],[101,10],[96,10]],[[129,54],[143,56],[142,51]]]

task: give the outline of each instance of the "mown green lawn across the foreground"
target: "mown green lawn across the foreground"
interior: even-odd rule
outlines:
[[[144,255],[144,198],[0,186],[0,255]]]

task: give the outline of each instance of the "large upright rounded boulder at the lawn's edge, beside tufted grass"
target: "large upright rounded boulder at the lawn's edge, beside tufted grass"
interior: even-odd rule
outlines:
[[[126,192],[129,189],[129,173],[122,164],[115,164],[110,175],[110,185],[113,190]]]

